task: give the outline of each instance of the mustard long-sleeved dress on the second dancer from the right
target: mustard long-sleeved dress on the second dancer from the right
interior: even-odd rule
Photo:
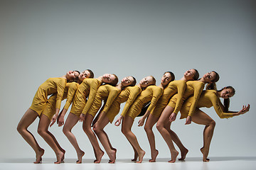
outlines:
[[[177,100],[178,100],[178,94],[175,94],[171,98],[168,106],[171,106],[172,108],[176,108],[176,110],[174,110],[174,113],[177,114],[178,111],[181,110],[182,104],[186,100],[186,98],[193,95],[193,97],[194,97],[193,98],[193,103],[192,103],[190,111],[188,113],[188,115],[192,116],[193,112],[196,109],[196,103],[198,102],[198,99],[199,99],[199,97],[200,97],[200,95],[203,91],[204,85],[205,84],[202,81],[187,81],[186,82],[186,90],[183,94],[181,104],[177,105],[177,107],[176,107],[176,103],[177,103]]]

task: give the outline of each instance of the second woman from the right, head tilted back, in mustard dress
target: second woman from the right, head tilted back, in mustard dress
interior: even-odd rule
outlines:
[[[199,75],[195,74],[196,79]],[[175,120],[176,114],[178,111],[180,111],[183,101],[188,98],[188,96],[193,95],[194,101],[193,101],[193,107],[191,106],[190,115],[192,115],[192,110],[194,110],[194,106],[196,105],[198,98],[201,95],[201,92],[203,91],[203,88],[206,83],[210,84],[209,86],[214,86],[215,82],[217,82],[219,79],[219,76],[216,72],[208,72],[207,74],[204,74],[204,76],[197,80],[197,81],[187,81],[186,82],[186,89],[183,93],[182,99],[180,100],[181,96],[180,94],[175,94],[173,97],[171,97],[171,100],[169,101],[168,106],[164,108],[164,111],[161,113],[161,116],[156,123],[156,128],[161,133],[161,136],[166,141],[166,144],[168,145],[170,152],[171,152],[171,160],[170,163],[176,162],[176,157],[178,156],[178,152],[174,148],[174,144],[172,140],[176,143],[178,148],[181,150],[181,159],[184,160],[186,158],[186,154],[188,153],[188,149],[184,147],[181,143],[181,141],[178,139],[178,136],[176,133],[171,130],[171,122],[169,121],[169,117],[171,115],[171,120]],[[178,96],[179,95],[179,96]],[[178,100],[179,98],[179,100]],[[178,103],[178,104],[177,104]],[[175,108],[175,110],[174,110]],[[186,123],[188,123],[186,121]]]

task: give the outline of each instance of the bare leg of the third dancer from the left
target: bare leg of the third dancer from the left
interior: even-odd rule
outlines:
[[[73,147],[75,147],[75,151],[78,154],[78,161],[76,163],[81,164],[82,157],[84,156],[85,152],[83,152],[80,149],[80,147],[78,146],[78,141],[75,139],[75,135],[73,135],[73,133],[71,132],[71,130],[75,126],[75,124],[78,123],[78,120],[79,120],[79,118],[77,115],[75,115],[73,113],[69,113],[68,118],[65,121],[65,125],[63,127],[63,133],[65,134],[66,137],[68,137],[68,140],[73,145]]]

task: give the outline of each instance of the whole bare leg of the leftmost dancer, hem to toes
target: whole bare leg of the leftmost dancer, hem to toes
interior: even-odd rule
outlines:
[[[31,125],[37,117],[38,113],[36,113],[36,111],[33,111],[31,108],[28,108],[28,111],[26,111],[26,113],[23,115],[17,127],[17,130],[21,134],[23,139],[26,140],[26,142],[28,142],[28,145],[31,145],[33,150],[36,152],[36,162],[34,162],[35,164],[41,162],[44,149],[39,147],[35,137],[32,135],[31,132],[28,131],[28,126]]]

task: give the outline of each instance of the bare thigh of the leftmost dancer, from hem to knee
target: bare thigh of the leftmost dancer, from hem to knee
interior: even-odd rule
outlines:
[[[21,118],[20,122],[18,123],[18,126],[21,128],[28,128],[29,125],[33,123],[33,121],[36,120],[38,117],[38,113],[36,111],[33,111],[31,108],[28,108],[26,113]]]

